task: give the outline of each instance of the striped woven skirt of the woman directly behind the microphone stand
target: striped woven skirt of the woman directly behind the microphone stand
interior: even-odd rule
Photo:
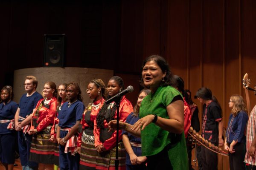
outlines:
[[[126,150],[122,142],[118,143],[118,170],[126,170],[125,164]],[[115,170],[116,147],[113,149],[97,153],[96,170]]]

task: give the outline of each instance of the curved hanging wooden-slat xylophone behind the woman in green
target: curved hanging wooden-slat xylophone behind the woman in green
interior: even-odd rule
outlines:
[[[218,153],[222,156],[228,156],[228,153],[224,152],[221,148],[219,148],[218,146],[215,146],[211,142],[208,142],[201,135],[199,135],[198,132],[193,130],[193,127],[189,128],[189,135],[192,136],[193,139],[196,140],[196,142],[200,143],[202,146],[206,147],[207,149],[211,150],[212,152]]]

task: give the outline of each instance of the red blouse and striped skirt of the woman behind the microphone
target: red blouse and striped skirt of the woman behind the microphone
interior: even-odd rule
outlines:
[[[108,109],[112,109],[115,102],[108,105]],[[126,121],[127,116],[133,111],[131,102],[122,97],[119,108],[119,120],[122,122]],[[114,119],[116,119],[116,112]],[[94,137],[95,147],[103,144],[107,151],[97,153],[96,157],[96,170],[115,170],[115,159],[116,159],[116,130],[108,132],[108,122],[104,120],[104,128],[97,127],[96,119],[94,121]],[[118,159],[119,159],[119,170],[125,170],[125,156],[126,151],[122,142],[122,130],[119,130],[119,144],[118,144]]]

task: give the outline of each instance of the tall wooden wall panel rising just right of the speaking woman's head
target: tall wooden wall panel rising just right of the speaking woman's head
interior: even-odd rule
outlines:
[[[168,3],[168,56],[173,74],[188,82],[187,77],[187,29],[188,1],[174,0]],[[187,84],[187,83],[186,83]]]

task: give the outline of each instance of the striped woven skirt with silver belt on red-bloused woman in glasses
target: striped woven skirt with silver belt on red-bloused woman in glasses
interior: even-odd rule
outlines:
[[[94,136],[89,136],[83,132],[79,170],[95,170],[97,153]]]

